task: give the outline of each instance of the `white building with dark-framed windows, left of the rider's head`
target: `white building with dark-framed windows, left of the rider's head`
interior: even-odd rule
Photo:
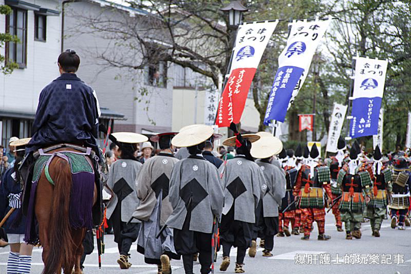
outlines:
[[[22,43],[0,47],[19,68],[11,75],[0,74],[0,122],[3,145],[11,136],[30,135],[42,88],[59,76],[57,57],[61,48],[60,1],[0,0],[13,11],[0,16],[0,29],[17,35]]]

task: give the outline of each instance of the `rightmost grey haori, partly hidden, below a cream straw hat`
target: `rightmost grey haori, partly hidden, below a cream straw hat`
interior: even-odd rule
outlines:
[[[263,217],[277,217],[278,206],[286,194],[286,176],[270,162],[256,162],[266,178],[266,189],[263,196]]]

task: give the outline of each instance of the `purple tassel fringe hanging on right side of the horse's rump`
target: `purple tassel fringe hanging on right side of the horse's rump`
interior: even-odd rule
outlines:
[[[93,173],[79,172],[72,174],[72,187],[70,193],[69,220],[72,229],[91,229],[92,206],[94,196]],[[73,195],[73,193],[75,193]]]

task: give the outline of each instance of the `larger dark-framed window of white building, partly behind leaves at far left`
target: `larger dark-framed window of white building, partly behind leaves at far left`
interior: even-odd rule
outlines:
[[[27,65],[27,10],[13,8],[6,16],[6,31],[16,35],[20,43],[6,43],[6,60],[18,64],[20,68]]]

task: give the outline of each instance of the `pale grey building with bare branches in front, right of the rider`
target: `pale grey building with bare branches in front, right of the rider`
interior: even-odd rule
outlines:
[[[140,63],[142,57],[138,41],[130,38],[129,43],[136,45],[135,50],[116,45],[113,38],[115,33],[94,31],[89,27],[88,20],[111,20],[110,26],[115,27],[114,21],[133,24],[134,20],[145,14],[142,10],[105,0],[73,1],[64,6],[64,48],[72,48],[79,54],[81,65],[78,76],[96,90],[100,105],[124,115],[126,120],[116,122],[117,132],[171,131],[171,68],[167,68],[165,62],[151,64],[145,69],[107,66],[101,59],[102,54],[111,57],[117,54],[128,58],[130,63]],[[156,71],[160,74],[159,78],[154,76]],[[141,96],[141,92],[145,95]]]

